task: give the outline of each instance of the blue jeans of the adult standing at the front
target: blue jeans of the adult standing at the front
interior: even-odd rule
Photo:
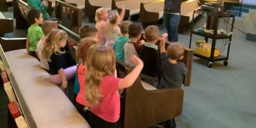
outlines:
[[[177,42],[179,36],[178,28],[180,24],[180,15],[164,13],[163,20],[164,26],[167,29],[168,40],[170,42]]]

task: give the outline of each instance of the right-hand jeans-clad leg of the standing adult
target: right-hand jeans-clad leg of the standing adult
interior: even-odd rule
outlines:
[[[178,28],[179,28],[179,24],[180,24],[180,15],[172,15],[170,17],[170,31],[172,33],[172,42],[177,42],[178,38],[179,38],[179,33],[178,33]],[[169,34],[169,33],[168,33]],[[169,35],[168,35],[169,36]],[[169,40],[171,41],[171,40]]]

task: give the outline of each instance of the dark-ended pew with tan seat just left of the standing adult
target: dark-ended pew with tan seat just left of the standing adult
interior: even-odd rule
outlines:
[[[140,4],[140,22],[143,28],[154,25],[163,18],[164,1],[153,1]]]

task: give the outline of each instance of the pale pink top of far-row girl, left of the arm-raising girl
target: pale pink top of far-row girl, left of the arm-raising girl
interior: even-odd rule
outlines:
[[[99,22],[97,22],[95,28],[97,28],[99,31],[98,44],[105,45],[105,43],[106,43],[106,35],[105,35],[105,30],[104,30],[105,29],[105,21],[100,20]]]

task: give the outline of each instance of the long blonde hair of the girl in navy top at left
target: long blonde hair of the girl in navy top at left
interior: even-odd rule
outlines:
[[[66,31],[60,29],[52,29],[47,38],[45,39],[46,44],[42,50],[43,58],[46,58],[47,61],[51,62],[51,55],[54,52],[55,54],[63,53],[60,51],[60,42],[67,40],[68,35]]]

